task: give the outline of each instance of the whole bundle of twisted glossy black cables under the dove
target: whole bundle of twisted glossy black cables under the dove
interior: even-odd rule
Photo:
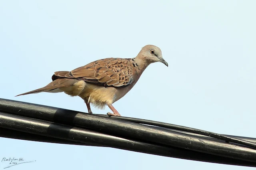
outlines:
[[[256,167],[255,138],[8,99],[0,99],[0,136]]]

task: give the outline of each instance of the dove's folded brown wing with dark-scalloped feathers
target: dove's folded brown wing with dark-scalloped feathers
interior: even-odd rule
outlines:
[[[52,79],[80,79],[104,86],[125,87],[134,81],[135,67],[128,59],[106,58],[93,61],[70,72],[57,71]]]

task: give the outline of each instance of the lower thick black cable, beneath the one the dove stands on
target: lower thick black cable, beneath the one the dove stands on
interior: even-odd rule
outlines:
[[[61,143],[63,143],[63,141],[66,140],[69,141],[69,143],[72,142],[72,144],[106,146],[174,158],[256,167],[256,163],[254,162],[214,156],[211,154],[183,150],[175,147],[158,146],[135,140],[126,140],[123,138],[94,132],[92,130],[61,125],[58,123],[50,123],[47,121],[40,121],[1,112],[0,127],[0,134],[3,132],[9,132],[9,136],[13,134],[16,134],[15,136],[29,134],[28,136],[30,140],[34,139],[36,141],[40,141],[38,136],[43,135],[47,137],[48,142],[54,143],[58,143],[59,141],[62,141]],[[24,136],[22,136],[22,138],[24,138]],[[44,138],[42,139],[45,140]]]

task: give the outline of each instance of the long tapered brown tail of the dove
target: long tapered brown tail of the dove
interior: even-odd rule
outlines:
[[[33,91],[29,91],[27,93],[22,93],[22,94],[16,95],[16,96],[28,95],[28,94],[34,94],[34,93],[41,93],[41,92],[59,93],[59,92],[63,92],[60,89],[61,87],[70,87],[78,81],[79,80],[77,80],[77,79],[70,79],[70,78],[56,79],[56,80],[52,81],[51,83],[49,83],[48,85],[46,85],[45,87],[42,87],[40,89],[36,89],[36,90],[33,90]]]

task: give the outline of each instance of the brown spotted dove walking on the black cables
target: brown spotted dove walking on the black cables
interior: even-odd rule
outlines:
[[[146,45],[134,58],[105,58],[72,71],[56,71],[48,85],[20,95],[64,92],[72,97],[81,97],[90,114],[90,104],[98,109],[104,109],[108,105],[113,112],[108,112],[108,116],[121,116],[112,104],[124,97],[148,65],[155,62],[164,63],[168,67],[161,49],[155,45]]]

